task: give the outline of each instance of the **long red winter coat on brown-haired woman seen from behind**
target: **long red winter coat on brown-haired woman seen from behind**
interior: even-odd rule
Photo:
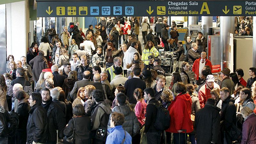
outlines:
[[[178,94],[170,105],[169,114],[171,117],[170,128],[166,132],[178,133],[178,130],[185,129],[187,133],[193,131],[191,121],[192,100],[188,93]],[[169,108],[168,108],[169,109]],[[185,133],[184,131],[182,133]]]

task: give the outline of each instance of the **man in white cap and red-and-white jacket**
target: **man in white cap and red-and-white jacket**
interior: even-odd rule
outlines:
[[[215,83],[215,79],[213,75],[208,75],[205,80],[205,84],[198,91],[198,99],[200,102],[200,107],[204,108],[204,104],[209,98],[212,98],[211,90],[213,88],[220,89],[220,86]]]

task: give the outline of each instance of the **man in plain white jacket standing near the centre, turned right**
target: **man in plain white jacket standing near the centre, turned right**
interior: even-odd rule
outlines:
[[[133,55],[134,53],[138,52],[138,43],[132,42],[131,46],[128,48],[128,50],[124,53],[124,65],[129,65],[133,62]],[[127,76],[130,75],[132,71],[132,68],[127,68]]]

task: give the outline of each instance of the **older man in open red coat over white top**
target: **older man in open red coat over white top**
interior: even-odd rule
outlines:
[[[196,74],[196,84],[200,85],[200,80],[199,80],[199,73],[201,73],[202,69],[204,66],[210,66],[211,71],[212,71],[212,63],[210,60],[206,59],[206,52],[201,52],[201,58],[195,60],[192,71],[195,72]]]

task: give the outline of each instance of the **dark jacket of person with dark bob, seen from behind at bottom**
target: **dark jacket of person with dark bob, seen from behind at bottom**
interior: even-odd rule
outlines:
[[[73,133],[75,120],[75,144],[91,144],[91,118],[86,116],[76,116],[68,122],[64,129],[64,135],[70,137]]]

